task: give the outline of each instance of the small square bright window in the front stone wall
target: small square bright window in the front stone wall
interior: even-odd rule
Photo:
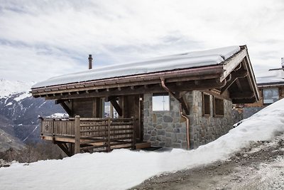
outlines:
[[[170,96],[168,93],[153,94],[153,111],[170,111]]]

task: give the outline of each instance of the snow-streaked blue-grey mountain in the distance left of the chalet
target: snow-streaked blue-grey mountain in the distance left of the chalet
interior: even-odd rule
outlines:
[[[0,80],[0,136],[14,137],[13,142],[20,144],[40,141],[38,117],[65,113],[54,101],[31,97],[31,85],[33,83]],[[4,139],[7,138],[0,137],[0,143]]]

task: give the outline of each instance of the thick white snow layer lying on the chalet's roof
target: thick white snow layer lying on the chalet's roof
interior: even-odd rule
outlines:
[[[136,63],[109,65],[106,67],[95,68],[83,72],[60,75],[58,77],[50,78],[43,82],[36,83],[32,88],[43,88],[53,85],[64,85],[70,83],[81,83],[91,80],[155,73],[165,70],[177,70],[185,68],[197,68],[208,65],[218,65],[240,50],[241,48],[239,46],[229,46],[207,51],[193,51],[173,56],[153,58]]]

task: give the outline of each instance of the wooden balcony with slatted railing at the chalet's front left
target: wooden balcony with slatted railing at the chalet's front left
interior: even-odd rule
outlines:
[[[109,152],[135,148],[133,118],[40,118],[41,135],[68,155],[80,152]]]

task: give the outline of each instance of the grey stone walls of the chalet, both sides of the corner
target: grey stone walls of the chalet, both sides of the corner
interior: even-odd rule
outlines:
[[[194,149],[202,144],[217,139],[226,134],[232,125],[232,104],[224,100],[224,117],[213,117],[213,96],[210,95],[210,116],[202,115],[202,93],[191,91],[185,95],[187,105],[190,106],[190,148]],[[174,147],[186,149],[187,130],[185,119],[180,116],[178,100],[170,97],[170,111],[153,112],[152,94],[145,94],[144,105],[144,141],[151,142],[156,147]]]

